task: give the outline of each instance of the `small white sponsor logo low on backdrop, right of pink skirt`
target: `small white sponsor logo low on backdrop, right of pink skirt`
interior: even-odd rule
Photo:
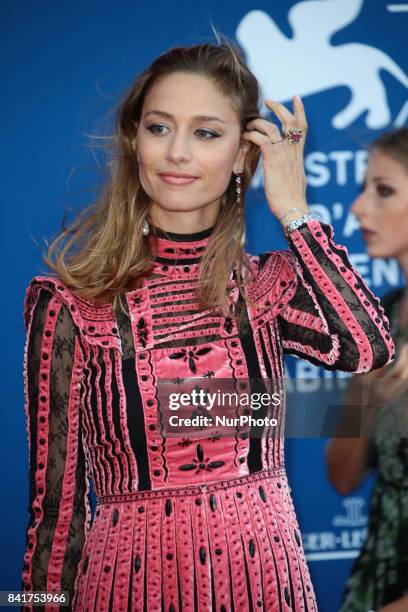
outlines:
[[[367,535],[368,517],[363,497],[348,497],[342,502],[344,513],[332,519],[332,529],[302,534],[308,561],[353,559],[358,556]]]

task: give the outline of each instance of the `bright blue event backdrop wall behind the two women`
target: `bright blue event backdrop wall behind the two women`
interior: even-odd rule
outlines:
[[[408,116],[408,5],[385,0],[3,0],[3,436],[0,589],[18,589],[27,514],[22,303],[41,264],[43,238],[97,187],[87,134],[107,133],[134,76],[172,45],[212,39],[211,24],[244,49],[265,93],[303,97],[309,202],[379,295],[401,283],[393,261],[370,262],[349,206],[364,147]],[[284,247],[257,175],[248,202],[248,248]],[[294,377],[323,376],[293,360]],[[332,373],[325,373],[329,381]],[[327,482],[324,439],[288,440],[287,465],[320,609],[338,607],[364,537],[370,483],[342,498]]]

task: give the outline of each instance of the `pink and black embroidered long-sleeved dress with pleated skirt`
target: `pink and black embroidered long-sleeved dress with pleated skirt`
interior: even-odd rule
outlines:
[[[393,356],[388,321],[332,228],[314,220],[290,250],[251,256],[247,294],[268,308],[245,308],[245,333],[200,312],[210,233],[160,234],[151,274],[124,294],[126,314],[53,277],[30,283],[26,590],[67,590],[75,611],[317,609],[283,436],[170,440],[157,381],[282,380],[284,352],[364,372]]]

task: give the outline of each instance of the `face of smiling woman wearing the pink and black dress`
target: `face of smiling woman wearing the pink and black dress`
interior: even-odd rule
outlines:
[[[229,99],[207,77],[183,72],[159,79],[146,95],[136,151],[150,216],[169,231],[214,224],[232,172],[244,162]]]

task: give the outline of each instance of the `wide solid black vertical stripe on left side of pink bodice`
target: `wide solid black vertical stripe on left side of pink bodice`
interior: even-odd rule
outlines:
[[[113,379],[112,379],[113,380]],[[152,488],[149,474],[149,458],[147,454],[147,438],[145,431],[142,396],[137,381],[135,358],[122,361],[122,380],[127,398],[127,426],[130,444],[136,457],[139,476],[138,491],[149,491]],[[119,392],[112,385],[114,402],[119,406]]]

